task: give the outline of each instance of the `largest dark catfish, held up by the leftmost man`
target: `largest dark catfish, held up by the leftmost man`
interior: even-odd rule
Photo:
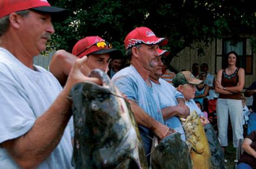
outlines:
[[[76,168],[147,168],[142,140],[129,103],[102,70],[90,77],[103,86],[78,83],[71,89]]]

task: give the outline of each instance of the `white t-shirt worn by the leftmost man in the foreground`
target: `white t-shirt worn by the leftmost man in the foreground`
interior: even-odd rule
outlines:
[[[27,133],[62,90],[50,72],[34,67],[29,69],[0,48],[0,143]],[[73,168],[72,153],[70,128],[66,127],[58,146],[38,168]],[[0,148],[0,168],[19,168],[5,148]]]

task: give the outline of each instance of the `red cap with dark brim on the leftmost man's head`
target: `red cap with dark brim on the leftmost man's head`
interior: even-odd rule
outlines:
[[[55,20],[67,18],[67,10],[51,6],[47,0],[1,0],[0,1],[0,18],[11,14],[31,9],[39,13],[49,13]],[[56,16],[56,17],[55,17]]]

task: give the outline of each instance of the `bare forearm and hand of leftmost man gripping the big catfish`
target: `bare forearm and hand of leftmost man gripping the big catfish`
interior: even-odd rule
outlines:
[[[99,79],[89,78],[81,73],[80,67],[86,60],[87,57],[76,60],[63,91],[50,108],[35,120],[34,126],[27,133],[0,144],[21,168],[37,168],[60,142],[71,117],[71,101],[67,99],[71,87],[86,80],[101,83]]]

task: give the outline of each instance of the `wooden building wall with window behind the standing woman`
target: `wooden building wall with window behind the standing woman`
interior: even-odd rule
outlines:
[[[196,46],[185,48],[178,56],[175,56],[170,62],[170,66],[176,71],[182,69],[191,71],[193,63],[207,63],[208,72],[216,76],[216,72],[224,66],[226,53],[234,50],[239,55],[239,66],[245,69],[245,88],[249,87],[256,80],[255,53],[251,49],[250,40],[243,38],[239,40],[236,46],[231,45],[230,39],[215,40],[208,46],[201,46],[204,49],[204,55],[199,56]]]

